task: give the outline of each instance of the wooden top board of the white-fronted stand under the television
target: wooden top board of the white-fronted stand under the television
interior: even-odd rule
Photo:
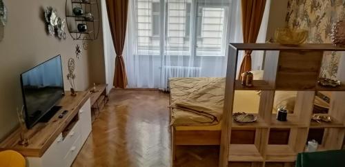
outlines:
[[[0,150],[16,150],[26,157],[41,157],[52,142],[59,136],[59,134],[68,126],[69,122],[75,115],[78,114],[79,109],[88,100],[90,94],[88,91],[77,92],[77,96],[70,96],[70,92],[66,92],[65,97],[61,99],[57,106],[62,108],[55,114],[48,123],[38,123],[33,128],[28,130],[28,146],[20,146],[21,129],[18,128],[4,141],[0,143]],[[68,110],[65,117],[59,119],[59,115],[63,110]]]

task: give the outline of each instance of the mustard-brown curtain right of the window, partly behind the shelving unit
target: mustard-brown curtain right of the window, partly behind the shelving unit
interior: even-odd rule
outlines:
[[[266,0],[242,0],[242,31],[244,43],[255,43],[265,11]],[[243,72],[252,70],[251,50],[246,50],[239,70],[239,78]]]

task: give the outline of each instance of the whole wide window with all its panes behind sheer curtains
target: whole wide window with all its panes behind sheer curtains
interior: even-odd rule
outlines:
[[[165,3],[164,9],[161,3]],[[164,39],[164,55],[191,55],[192,49],[195,56],[224,55],[226,7],[197,6],[192,0],[136,0],[136,9],[137,54],[160,55]],[[165,29],[161,30],[163,21]],[[190,30],[194,25],[195,30]]]

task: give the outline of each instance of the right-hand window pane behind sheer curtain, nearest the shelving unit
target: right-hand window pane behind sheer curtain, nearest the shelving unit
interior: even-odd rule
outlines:
[[[197,56],[224,56],[225,8],[201,7],[197,14]]]

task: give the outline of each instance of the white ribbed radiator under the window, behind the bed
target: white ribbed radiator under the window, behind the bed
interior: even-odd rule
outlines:
[[[184,67],[184,66],[163,66],[165,88],[169,91],[169,78],[174,77],[200,77],[200,67]]]

